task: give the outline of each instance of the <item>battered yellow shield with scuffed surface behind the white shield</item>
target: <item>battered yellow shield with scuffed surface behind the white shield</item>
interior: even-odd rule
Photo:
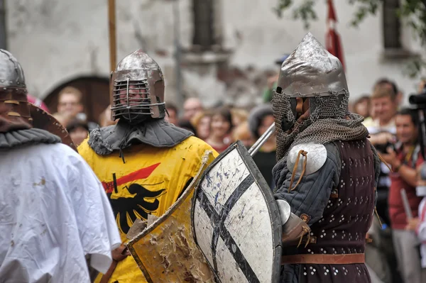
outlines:
[[[191,228],[195,186],[213,159],[212,152],[206,152],[199,172],[178,201],[127,244],[148,282],[214,282]]]

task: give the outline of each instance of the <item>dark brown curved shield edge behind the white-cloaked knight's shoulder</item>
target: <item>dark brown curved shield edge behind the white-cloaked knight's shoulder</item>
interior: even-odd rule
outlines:
[[[58,135],[63,144],[77,151],[67,129],[65,129],[55,117],[34,104],[28,103],[28,105],[30,106],[31,118],[33,118],[33,128],[40,128],[49,133],[53,133],[53,135]]]

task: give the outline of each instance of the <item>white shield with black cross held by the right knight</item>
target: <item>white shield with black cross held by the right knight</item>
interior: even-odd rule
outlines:
[[[204,171],[192,207],[195,242],[219,282],[278,282],[278,206],[238,141]]]

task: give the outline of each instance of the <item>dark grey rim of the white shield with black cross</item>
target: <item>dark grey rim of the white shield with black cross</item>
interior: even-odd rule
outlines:
[[[192,235],[194,237],[195,245],[197,245],[197,247],[200,249],[201,253],[206,258],[206,262],[209,265],[211,270],[214,270],[214,267],[212,267],[210,262],[207,260],[206,255],[204,254],[204,252],[200,248],[200,245],[198,245],[197,236],[196,236],[196,233],[195,233],[195,226],[194,226],[195,201],[197,199],[197,194],[198,194],[198,191],[199,191],[199,188],[200,188],[200,184],[204,180],[204,177],[206,177],[207,173],[209,172],[209,169],[211,169],[210,167],[214,167],[215,165],[217,165],[217,163],[219,163],[224,158],[225,155],[227,155],[229,152],[231,152],[234,149],[238,150],[241,157],[243,157],[242,160],[244,161],[244,164],[249,169],[251,174],[253,174],[253,176],[255,177],[254,182],[258,183],[258,187],[261,189],[261,192],[263,193],[263,196],[266,199],[266,206],[268,207],[269,216],[271,217],[272,213],[275,213],[275,215],[278,215],[278,216],[280,215],[279,211],[278,211],[278,206],[275,204],[275,198],[273,197],[272,189],[264,189],[264,188],[269,188],[269,185],[268,185],[268,183],[266,183],[265,178],[263,177],[261,172],[258,170],[258,167],[256,166],[253,158],[249,154],[249,151],[246,149],[246,146],[244,145],[244,143],[242,143],[241,140],[237,140],[235,143],[232,143],[231,145],[229,145],[229,147],[226,148],[226,150],[224,150],[224,152],[222,152],[218,157],[216,157],[213,160],[213,162],[210,163],[210,165],[204,170],[204,172],[202,172],[202,176],[200,177],[199,181],[197,182],[197,185],[195,187],[195,192],[192,196],[192,206],[191,206]],[[272,219],[272,217],[271,217],[271,219]],[[280,280],[281,251],[282,251],[281,238],[282,238],[283,232],[282,232],[282,226],[281,226],[280,221],[279,222],[272,221],[271,226],[272,226],[272,232],[273,232],[273,246],[275,247],[273,249],[274,250],[273,257],[274,257],[275,264],[273,265],[271,282],[275,283],[275,282],[279,282],[279,280]],[[219,278],[217,278],[217,274],[215,274],[215,273],[214,273],[214,278],[217,282],[222,282]]]

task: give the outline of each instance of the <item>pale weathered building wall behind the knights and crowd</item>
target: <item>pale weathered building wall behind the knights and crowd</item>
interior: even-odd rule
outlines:
[[[174,16],[172,0],[117,0],[117,57],[138,48],[162,67],[166,97],[181,103],[175,91]],[[220,103],[248,107],[258,103],[266,77],[278,68],[275,59],[291,52],[307,32],[302,23],[280,19],[275,0],[217,0],[215,28],[220,50],[192,52],[192,0],[180,0],[182,89],[200,96],[205,106]],[[346,60],[351,98],[368,93],[378,77],[395,79],[406,94],[415,81],[404,77],[401,60],[383,60],[381,15],[349,27],[354,9],[334,1],[342,21],[338,30]],[[109,77],[107,1],[7,0],[9,50],[23,65],[31,94],[43,98],[58,85],[80,76]],[[317,4],[319,20],[310,31],[324,43],[325,4]],[[423,52],[410,31],[403,30],[405,48]],[[235,71],[238,72],[235,72]],[[236,79],[234,79],[236,78]]]

